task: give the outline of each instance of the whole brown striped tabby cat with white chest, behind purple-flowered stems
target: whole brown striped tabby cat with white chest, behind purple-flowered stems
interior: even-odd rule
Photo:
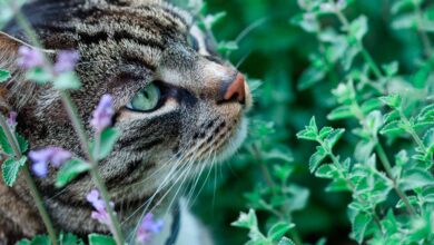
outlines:
[[[82,88],[71,98],[89,136],[99,99],[114,97],[112,125],[121,136],[98,170],[124,232],[131,234],[144,212],[151,210],[166,220],[155,244],[211,244],[185,202],[178,202],[179,193],[187,178],[235,153],[251,107],[245,78],[216,53],[213,37],[191,14],[159,0],[36,0],[22,11],[48,57],[79,51],[76,71]],[[59,92],[26,81],[16,65],[19,47],[28,43],[16,22],[0,32],[0,67],[12,72],[0,85],[0,109],[18,112],[17,130],[31,149],[60,146],[82,156]],[[55,187],[55,177],[51,169],[36,180],[56,228],[80,236],[108,233],[90,217],[90,176],[63,189]],[[45,232],[23,179],[12,188],[1,182],[0,244]]]

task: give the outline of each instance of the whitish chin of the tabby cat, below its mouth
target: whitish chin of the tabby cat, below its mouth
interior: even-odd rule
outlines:
[[[234,131],[234,136],[225,144],[223,149],[217,155],[217,161],[221,163],[231,157],[243,145],[247,137],[247,118],[241,118],[238,127]]]

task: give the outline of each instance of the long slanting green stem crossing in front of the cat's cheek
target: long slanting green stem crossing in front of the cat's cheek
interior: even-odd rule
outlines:
[[[108,210],[110,222],[114,226],[112,233],[114,233],[116,243],[118,245],[124,245],[125,239],[124,239],[122,231],[120,228],[120,223],[117,219],[117,217],[115,215],[115,210],[110,205],[109,193],[106,188],[103,179],[101,178],[101,176],[98,173],[98,161],[93,158],[93,155],[90,151],[88,138],[86,136],[85,128],[83,128],[82,124],[80,122],[81,120],[78,116],[77,109],[73,106],[73,102],[72,102],[72,100],[67,91],[60,91],[60,96],[62,99],[63,107],[68,112],[69,119],[71,120],[72,127],[79,137],[82,151],[85,153],[87,159],[89,160],[89,164],[91,165],[90,175],[92,176],[93,183],[96,184],[97,188],[99,189],[101,197],[106,204],[106,208]],[[96,137],[96,143],[97,143],[96,145],[98,145],[97,148],[99,148],[99,140],[100,140],[100,134],[98,133],[97,137]]]

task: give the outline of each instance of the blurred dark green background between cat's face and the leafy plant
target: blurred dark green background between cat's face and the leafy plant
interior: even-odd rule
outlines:
[[[418,37],[413,31],[397,31],[391,27],[393,2],[353,1],[345,14],[349,20],[359,14],[368,17],[369,30],[364,43],[377,62],[397,59],[402,69],[411,69],[422,51]],[[240,210],[255,207],[254,193],[267,185],[269,177],[264,173],[264,165],[269,169],[290,165],[289,182],[294,193],[286,202],[293,208],[292,222],[303,242],[315,244],[326,237],[327,244],[355,244],[348,238],[351,225],[346,214],[351,194],[325,192],[328,182],[316,178],[308,170],[314,146],[295,137],[313,115],[320,126],[348,126],[325,121],[326,115],[336,106],[331,92],[337,86],[336,80],[325,77],[309,88],[304,86],[304,79],[308,77],[304,72],[310,65],[309,56],[318,50],[318,42],[315,36],[292,24],[292,18],[300,12],[297,1],[206,0],[206,3],[208,13],[226,12],[213,29],[216,39],[239,41],[238,50],[229,56],[230,61],[239,65],[239,70],[250,80],[262,80],[262,85],[254,92],[255,106],[248,114],[247,143],[233,159],[209,174],[194,212],[203,217],[218,244],[243,244],[247,241],[247,232],[230,223],[237,219]],[[331,17],[325,22],[334,24],[337,20]],[[356,145],[354,136],[347,134],[346,137],[338,146],[343,156],[354,150],[343,146]],[[255,157],[255,150],[265,157]],[[265,163],[258,163],[260,160]],[[259,222],[267,226],[272,222],[270,215],[255,208]]]

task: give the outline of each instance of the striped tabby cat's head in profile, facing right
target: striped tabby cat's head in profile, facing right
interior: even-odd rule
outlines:
[[[185,11],[147,0],[42,0],[23,11],[45,48],[80,52],[76,70],[82,88],[71,96],[89,135],[99,99],[114,97],[114,126],[121,136],[100,163],[100,173],[115,200],[140,200],[166,178],[179,185],[205,163],[239,147],[246,135],[244,111],[251,105],[249,89]],[[7,32],[26,40],[13,23]],[[0,43],[14,50],[11,42]],[[80,154],[59,92],[23,82],[17,78],[3,89],[31,147],[58,145]],[[52,192],[47,195],[56,194],[52,184],[52,175],[41,182],[45,192]],[[57,198],[77,204],[91,187],[90,177],[83,176]]]

